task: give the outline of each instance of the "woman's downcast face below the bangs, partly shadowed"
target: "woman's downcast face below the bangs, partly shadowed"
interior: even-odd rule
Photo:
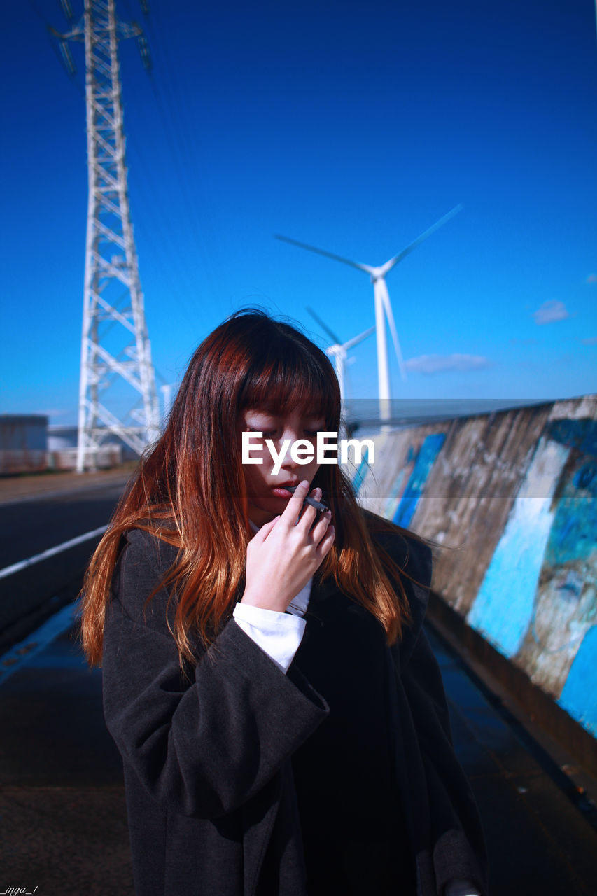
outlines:
[[[256,526],[273,520],[282,513],[290,499],[290,492],[282,486],[298,486],[307,479],[313,481],[319,464],[316,461],[316,437],[319,430],[325,429],[325,420],[316,415],[305,416],[304,411],[295,410],[285,416],[276,416],[270,411],[253,409],[244,410],[240,414],[238,441],[242,433],[263,433],[261,439],[251,440],[250,457],[261,460],[258,464],[243,464],[245,482],[247,483],[247,499],[249,519]],[[281,460],[274,461],[273,452],[265,444],[271,439],[275,453],[280,455],[283,444],[290,440]],[[290,456],[290,445],[306,440],[313,445],[313,459],[308,463],[299,463]],[[279,470],[277,470],[279,466]],[[277,470],[277,471],[276,471]]]

